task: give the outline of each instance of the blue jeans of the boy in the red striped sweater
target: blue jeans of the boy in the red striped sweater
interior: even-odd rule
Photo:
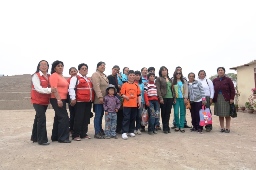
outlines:
[[[159,117],[156,118],[157,111],[159,114],[158,100],[149,100],[149,104],[150,106],[148,108],[148,114],[149,114],[148,132],[153,132],[153,131],[156,131],[156,123],[157,123],[157,120],[159,119]]]

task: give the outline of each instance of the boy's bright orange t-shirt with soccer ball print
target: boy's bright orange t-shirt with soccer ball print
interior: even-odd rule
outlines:
[[[127,97],[130,97],[130,100],[127,101],[124,99],[123,106],[125,107],[137,107],[137,99],[138,96],[141,96],[141,89],[140,86],[137,83],[128,83],[125,82],[121,89],[121,95],[125,94]]]

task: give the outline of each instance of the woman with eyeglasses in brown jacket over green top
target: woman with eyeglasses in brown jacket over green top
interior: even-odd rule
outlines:
[[[163,133],[171,133],[169,127],[172,105],[176,104],[176,93],[173,89],[173,82],[169,78],[168,69],[165,66],[160,67],[159,77],[156,79],[157,94],[160,100],[161,118],[163,124]]]

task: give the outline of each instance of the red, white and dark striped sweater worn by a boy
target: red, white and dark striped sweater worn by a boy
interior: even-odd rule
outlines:
[[[148,81],[144,86],[144,100],[146,105],[149,105],[149,100],[158,100],[157,88],[152,81]]]

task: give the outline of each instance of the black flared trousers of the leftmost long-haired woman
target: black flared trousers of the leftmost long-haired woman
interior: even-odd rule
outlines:
[[[45,112],[47,110],[48,105],[45,106],[33,103],[33,106],[36,110],[36,116],[30,140],[37,141],[37,143],[46,143],[48,142],[48,138],[46,132]]]

